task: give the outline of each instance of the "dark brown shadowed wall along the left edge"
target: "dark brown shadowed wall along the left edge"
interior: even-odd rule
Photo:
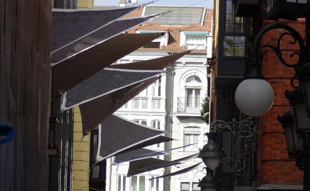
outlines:
[[[0,0],[0,191],[47,190],[51,0]]]

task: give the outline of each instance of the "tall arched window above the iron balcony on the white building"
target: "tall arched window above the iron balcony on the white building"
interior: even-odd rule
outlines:
[[[202,89],[201,79],[195,75],[189,76],[185,81],[185,97],[187,112],[197,112],[202,102],[200,91]]]

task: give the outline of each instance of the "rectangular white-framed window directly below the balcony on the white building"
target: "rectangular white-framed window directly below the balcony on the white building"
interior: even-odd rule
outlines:
[[[193,144],[187,147],[184,147],[184,151],[198,151],[198,142],[200,135],[200,127],[184,127],[184,146]]]

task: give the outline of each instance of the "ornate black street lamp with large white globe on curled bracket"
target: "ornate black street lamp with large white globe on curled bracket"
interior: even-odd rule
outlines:
[[[308,26],[310,26],[310,24],[308,18],[306,18],[306,28]],[[294,112],[296,131],[293,133],[297,133],[299,137],[303,138],[304,191],[310,191],[310,63],[307,63],[310,61],[309,31],[306,31],[306,36],[309,37],[306,38],[306,47],[304,39],[299,32],[288,25],[276,23],[262,29],[254,40],[253,55],[244,80],[236,89],[235,103],[238,109],[248,116],[261,116],[271,108],[273,104],[273,91],[270,85],[264,80],[256,54],[259,50],[258,46],[260,38],[272,29],[284,29],[287,31],[279,36],[277,46],[267,44],[262,47],[271,48],[276,53],[282,64],[287,67],[293,67],[296,71],[294,77],[291,79],[291,85],[296,89],[293,92],[287,91],[286,95]],[[290,43],[293,45],[298,43],[300,47],[299,52],[294,52],[290,55],[291,57],[295,55],[298,56],[298,62],[295,64],[287,63],[282,57],[280,42],[285,36],[291,36],[293,41],[290,41]],[[298,86],[294,83],[296,79],[299,81]],[[262,93],[261,91],[265,92]]]

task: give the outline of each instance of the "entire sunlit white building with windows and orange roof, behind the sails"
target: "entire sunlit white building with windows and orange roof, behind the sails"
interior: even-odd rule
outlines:
[[[162,10],[163,6],[157,7]],[[143,14],[148,12],[145,9],[146,7]],[[211,59],[212,33],[211,29],[205,26],[205,20],[206,14],[211,15],[212,11],[205,7],[201,7],[201,10],[203,10],[201,12],[202,21],[198,23],[199,26],[167,27],[150,23],[130,31],[136,33],[171,32],[117,62],[123,64],[151,60],[195,49],[165,68],[165,75],[116,112],[126,119],[165,130],[165,136],[174,139],[167,143],[149,146],[148,149],[164,151],[192,144],[184,148],[166,151],[167,154],[157,156],[158,159],[175,160],[186,157],[198,153],[198,148],[202,148],[206,144],[204,134],[209,130],[209,127],[201,118],[200,110],[203,99],[209,95],[207,66],[208,59]],[[106,190],[199,191],[198,180],[205,176],[203,163],[188,173],[148,180],[169,172],[176,172],[199,162],[201,162],[199,158],[191,159],[171,168],[166,167],[126,177],[129,162],[113,165],[112,157],[107,159]]]

